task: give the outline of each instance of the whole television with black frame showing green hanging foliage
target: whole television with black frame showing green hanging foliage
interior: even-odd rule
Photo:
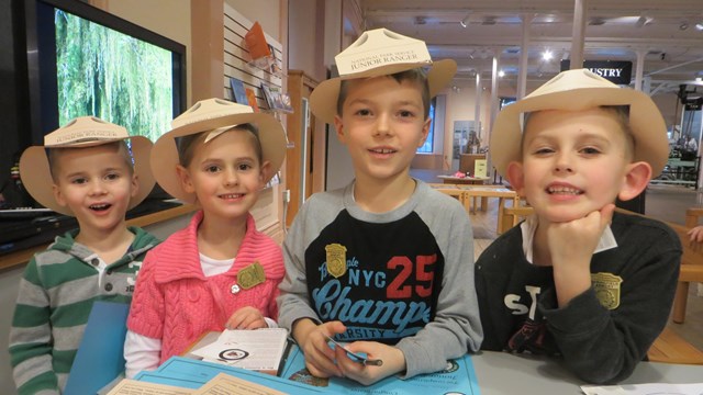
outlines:
[[[27,1],[33,144],[93,115],[156,140],[186,106],[186,48],[76,0]]]

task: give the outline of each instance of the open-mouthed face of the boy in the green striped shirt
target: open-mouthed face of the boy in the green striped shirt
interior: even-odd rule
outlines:
[[[55,159],[54,196],[70,208],[80,232],[109,232],[124,223],[136,176],[118,145],[63,148]]]

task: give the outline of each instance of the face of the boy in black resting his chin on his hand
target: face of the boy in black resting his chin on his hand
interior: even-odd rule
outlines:
[[[568,222],[601,210],[625,188],[629,146],[615,114],[602,109],[539,111],[525,131],[523,162],[509,178],[540,217]]]

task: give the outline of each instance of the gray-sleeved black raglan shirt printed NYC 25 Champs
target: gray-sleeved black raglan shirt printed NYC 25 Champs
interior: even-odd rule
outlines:
[[[405,377],[436,372],[481,345],[473,237],[455,199],[416,180],[381,214],[354,202],[354,183],[309,199],[283,244],[279,324],[339,320],[337,340],[380,341],[405,356]]]

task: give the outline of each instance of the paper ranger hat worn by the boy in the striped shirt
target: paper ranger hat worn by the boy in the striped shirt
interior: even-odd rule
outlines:
[[[94,116],[79,116],[44,136],[44,146],[32,146],[25,149],[20,158],[22,183],[41,205],[57,213],[72,216],[72,211],[58,205],[54,198],[54,180],[49,170],[46,148],[87,148],[127,138],[131,140],[134,173],[137,176],[137,184],[140,185],[137,194],[130,199],[127,210],[132,208],[142,203],[154,188],[155,181],[148,160],[152,142],[146,137],[130,136],[126,128]]]

